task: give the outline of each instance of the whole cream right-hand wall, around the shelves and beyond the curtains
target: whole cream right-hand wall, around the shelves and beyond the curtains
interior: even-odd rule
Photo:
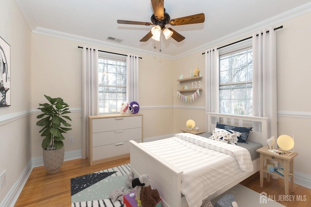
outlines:
[[[277,23],[275,26],[284,26],[276,33],[278,136],[282,134],[294,135],[294,151],[299,153],[295,158],[295,171],[311,179],[311,165],[306,164],[306,157],[311,156],[309,149],[311,138],[308,130],[308,127],[311,126],[311,27],[306,25],[306,22],[310,21],[311,12]],[[251,35],[241,36],[211,47],[221,47]],[[182,85],[175,80],[178,79],[179,74],[190,74],[190,69],[194,69],[196,66],[201,71],[203,70],[202,80],[205,81],[205,60],[202,52],[193,53],[174,61],[174,92]],[[203,85],[203,93],[206,91],[205,89],[206,87]],[[189,110],[180,106],[187,106]],[[198,101],[187,104],[174,97],[174,131],[178,132],[180,127],[185,126],[185,121],[190,118],[205,126],[205,117],[202,116],[205,110],[200,113],[193,109],[204,106],[205,98],[203,96]],[[309,180],[309,184],[310,182],[311,180]]]

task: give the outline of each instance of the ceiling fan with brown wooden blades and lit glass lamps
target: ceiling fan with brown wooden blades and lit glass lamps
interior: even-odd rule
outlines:
[[[177,33],[172,28],[166,27],[167,24],[177,26],[185,24],[203,23],[205,20],[205,16],[203,13],[171,19],[170,15],[165,12],[164,0],[151,0],[151,4],[154,10],[154,14],[151,16],[151,22],[128,21],[120,19],[117,20],[119,24],[135,24],[146,26],[155,25],[147,35],[141,38],[140,42],[146,42],[150,38],[160,41],[161,31],[163,31],[163,35],[166,39],[172,36],[174,40],[180,42],[184,40],[185,37]]]

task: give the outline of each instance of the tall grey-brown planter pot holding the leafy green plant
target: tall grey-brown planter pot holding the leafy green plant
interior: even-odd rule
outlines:
[[[43,163],[49,174],[60,171],[64,162],[65,147],[59,150],[43,150]]]

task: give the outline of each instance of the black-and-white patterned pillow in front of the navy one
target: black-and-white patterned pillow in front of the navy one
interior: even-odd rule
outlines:
[[[229,143],[229,144],[237,144],[237,142],[239,140],[238,137],[240,135],[241,135],[240,132],[215,128],[215,130],[213,130],[213,134],[210,137],[210,139]]]

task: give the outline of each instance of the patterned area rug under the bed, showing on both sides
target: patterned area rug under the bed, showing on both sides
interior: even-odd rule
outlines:
[[[125,183],[130,171],[130,164],[125,164],[72,178],[70,180],[71,207],[122,207],[122,201],[113,202],[108,196],[112,190],[122,187],[125,189],[123,192],[129,190]],[[214,206],[219,199],[227,194],[234,195],[239,207],[284,207],[276,201],[268,199],[262,203],[262,198],[258,192],[240,184],[211,200],[211,205]]]

